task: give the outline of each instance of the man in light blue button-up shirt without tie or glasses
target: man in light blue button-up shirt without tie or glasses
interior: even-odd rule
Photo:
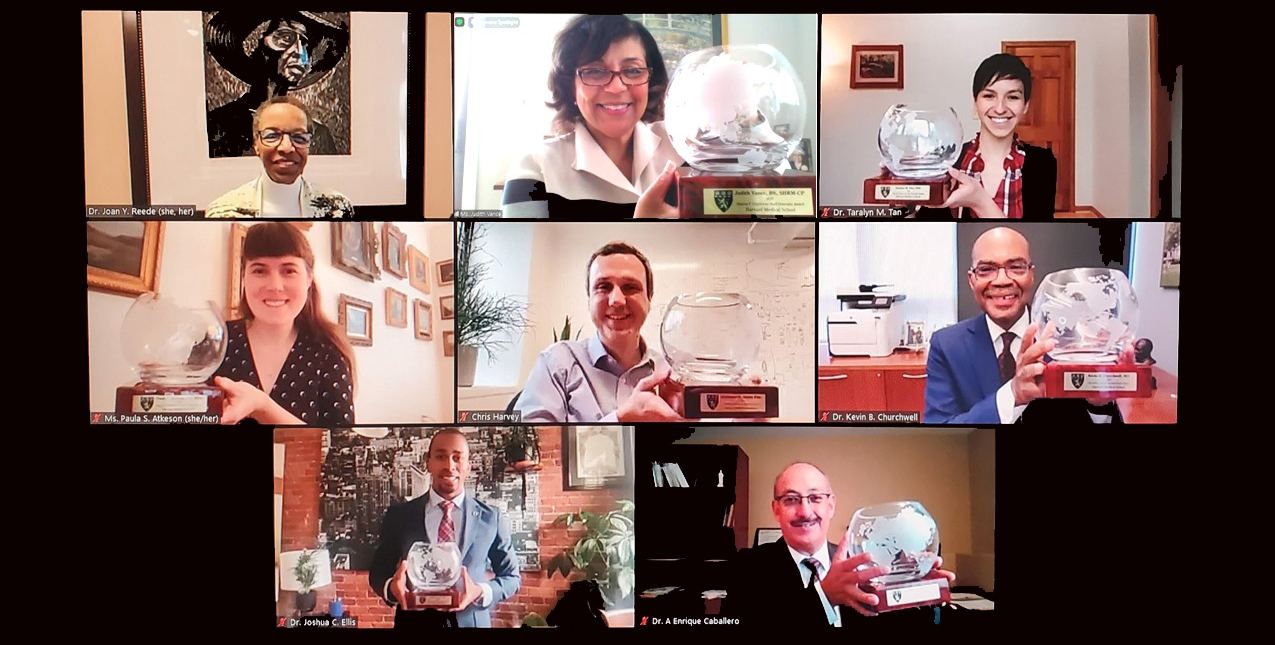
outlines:
[[[586,277],[598,333],[541,352],[515,402],[523,422],[686,421],[668,363],[641,337],[655,294],[650,261],[626,242],[609,242],[589,257]]]

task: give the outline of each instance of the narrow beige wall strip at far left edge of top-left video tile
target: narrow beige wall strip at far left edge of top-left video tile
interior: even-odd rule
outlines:
[[[129,110],[120,11],[80,14],[84,51],[84,201],[131,204]]]

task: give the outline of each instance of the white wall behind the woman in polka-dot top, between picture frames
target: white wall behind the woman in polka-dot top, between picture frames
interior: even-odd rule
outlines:
[[[399,222],[408,243],[430,254],[431,264],[451,257],[451,224]],[[380,236],[381,223],[375,224]],[[168,222],[163,231],[158,291],[180,302],[212,301],[226,305],[231,223]],[[442,329],[437,305],[440,288],[423,294],[407,278],[381,272],[376,282],[361,280],[332,266],[330,224],[316,223],[306,233],[315,251],[315,280],[326,316],[337,320],[338,296],[344,293],[372,303],[372,347],[356,347],[358,391],[354,396],[358,423],[450,422],[453,405],[453,359],[442,356]],[[431,266],[432,269],[432,266]],[[385,288],[408,294],[408,326],[385,324]],[[448,287],[450,289],[450,287]],[[445,293],[450,293],[446,291]],[[433,340],[413,334],[412,300],[432,305]],[[136,381],[120,351],[120,326],[133,297],[88,292],[89,409],[115,408],[115,388]],[[448,321],[450,325],[451,321]]]

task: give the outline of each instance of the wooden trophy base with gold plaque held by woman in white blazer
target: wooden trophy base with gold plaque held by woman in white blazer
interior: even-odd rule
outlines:
[[[815,217],[813,172],[677,170],[677,208],[688,217]]]

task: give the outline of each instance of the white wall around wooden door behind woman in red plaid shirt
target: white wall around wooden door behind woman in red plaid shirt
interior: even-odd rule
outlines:
[[[1140,22],[1142,37],[1130,41]],[[1146,217],[1149,111],[1146,17],[824,15],[820,203],[858,204],[878,172],[876,136],[894,103],[950,106],[965,139],[978,133],[970,83],[1002,41],[1076,41],[1076,204],[1108,217]],[[904,89],[849,89],[852,45],[903,45]],[[1135,98],[1140,102],[1135,103]],[[1136,106],[1136,110],[1131,110]],[[1141,177],[1131,175],[1141,164]],[[1141,184],[1133,184],[1141,181]],[[1137,210],[1141,208],[1141,210]]]

